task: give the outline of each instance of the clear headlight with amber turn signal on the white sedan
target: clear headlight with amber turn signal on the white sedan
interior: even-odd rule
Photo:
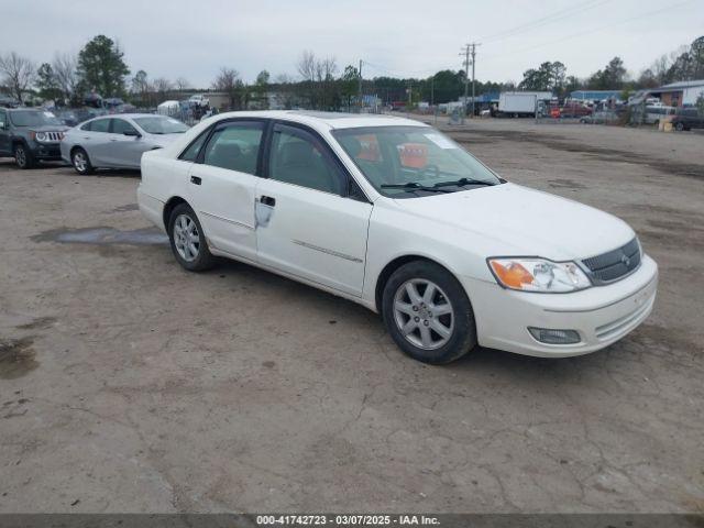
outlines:
[[[520,292],[561,294],[592,286],[588,277],[573,262],[546,258],[490,258],[488,265],[502,286]]]

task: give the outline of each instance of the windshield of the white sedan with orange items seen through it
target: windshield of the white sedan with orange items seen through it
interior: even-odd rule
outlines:
[[[430,127],[365,127],[332,131],[382,195],[415,198],[501,184],[454,141]]]

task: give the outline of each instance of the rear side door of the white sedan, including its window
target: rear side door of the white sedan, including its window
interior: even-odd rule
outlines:
[[[264,121],[226,121],[190,167],[191,202],[208,243],[256,260],[254,191]]]

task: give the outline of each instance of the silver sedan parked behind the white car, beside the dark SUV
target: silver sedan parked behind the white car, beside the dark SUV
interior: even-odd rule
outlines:
[[[142,154],[168,145],[187,130],[180,121],[165,116],[103,116],[69,130],[61,155],[78,174],[91,174],[96,168],[140,168]]]

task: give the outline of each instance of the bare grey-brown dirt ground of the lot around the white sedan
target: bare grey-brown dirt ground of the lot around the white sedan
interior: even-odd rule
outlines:
[[[704,512],[704,135],[446,130],[628,221],[660,265],[648,321],[426,366],[352,302],[184,272],[136,173],[1,160],[0,512]]]

